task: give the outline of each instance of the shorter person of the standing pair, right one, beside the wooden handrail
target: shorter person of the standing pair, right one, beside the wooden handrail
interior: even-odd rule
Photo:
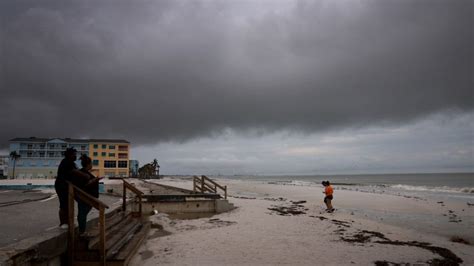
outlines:
[[[74,184],[82,189],[84,192],[87,194],[91,195],[94,198],[99,197],[99,180],[100,178],[95,177],[91,171],[92,171],[92,160],[89,156],[87,155],[82,155],[81,156],[81,172],[85,175],[87,175],[87,178],[81,178],[77,179]],[[77,222],[79,223],[79,233],[82,235],[86,231],[86,224],[87,224],[87,214],[92,209],[92,206],[89,204],[83,202],[79,198],[76,198],[77,200]]]

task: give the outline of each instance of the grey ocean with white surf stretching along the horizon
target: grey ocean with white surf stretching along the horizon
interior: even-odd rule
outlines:
[[[291,186],[321,186],[323,180],[328,180],[335,189],[474,201],[474,173],[226,176],[225,178]]]

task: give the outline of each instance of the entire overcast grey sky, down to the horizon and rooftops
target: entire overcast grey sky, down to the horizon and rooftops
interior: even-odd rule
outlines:
[[[0,2],[0,149],[162,171],[474,171],[472,0]]]

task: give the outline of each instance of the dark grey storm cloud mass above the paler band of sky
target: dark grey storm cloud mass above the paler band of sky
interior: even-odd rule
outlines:
[[[473,2],[2,1],[0,140],[315,132],[473,109]]]

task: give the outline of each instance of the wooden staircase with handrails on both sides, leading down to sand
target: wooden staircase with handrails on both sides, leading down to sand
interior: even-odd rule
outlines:
[[[85,202],[94,200],[90,205],[99,210],[98,224],[87,229],[86,236],[77,236],[75,228],[70,227],[68,237],[69,265],[127,265],[146,238],[150,223],[142,217],[141,213],[143,193],[127,181],[123,180],[123,182],[124,202],[122,208],[107,214],[104,212],[104,209],[108,208],[107,205],[69,184],[70,201],[71,198],[74,199],[74,196],[82,200],[85,199]],[[138,198],[139,211],[137,212],[126,209],[127,189],[134,192]],[[74,210],[74,208],[69,209]],[[71,213],[69,215],[70,222],[72,218],[72,224],[74,224],[74,213],[72,212],[72,216]]]

